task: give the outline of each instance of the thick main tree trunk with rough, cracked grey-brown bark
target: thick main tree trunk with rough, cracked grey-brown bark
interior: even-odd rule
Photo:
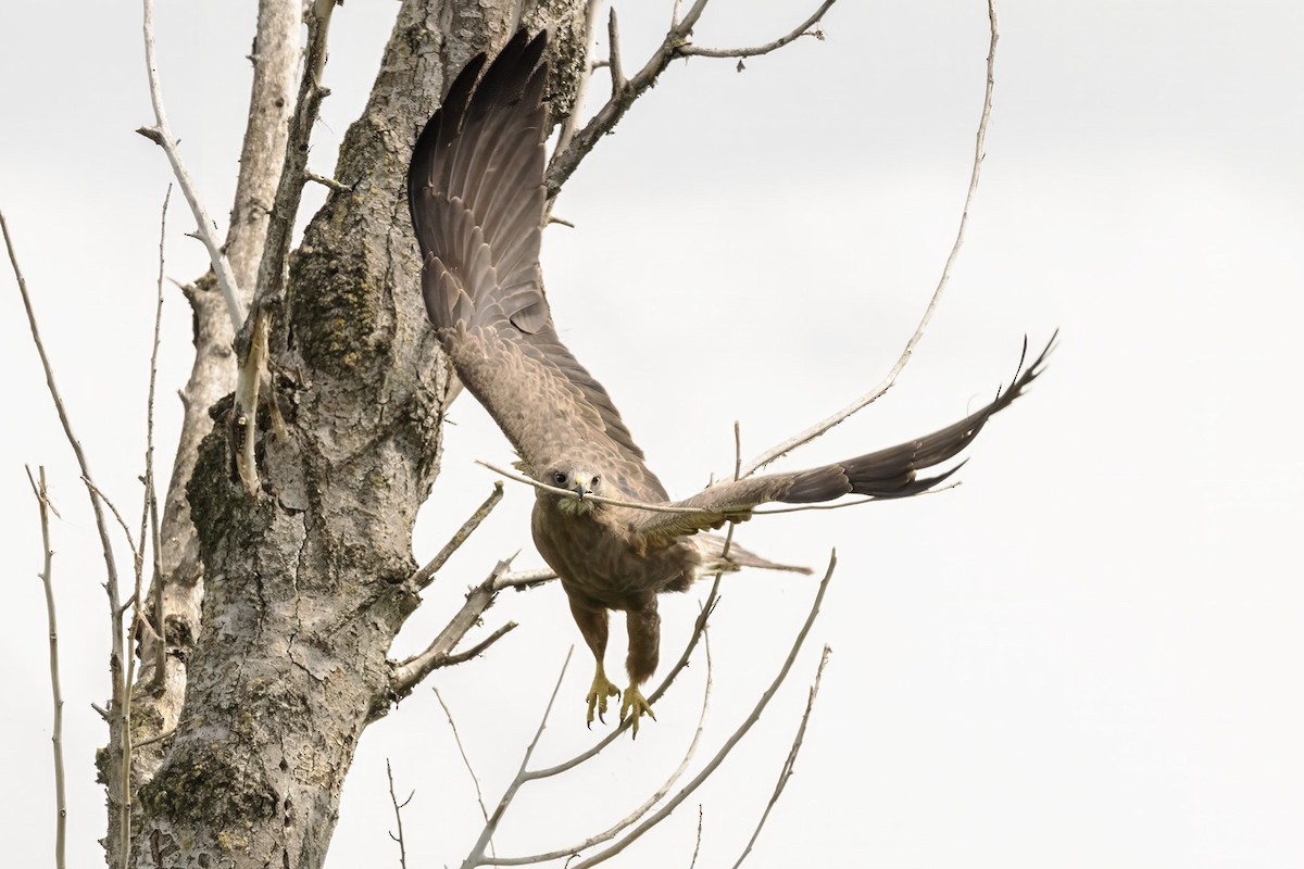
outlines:
[[[250,496],[232,476],[223,426],[198,448],[188,494],[202,620],[177,670],[180,726],[138,792],[133,865],[325,860],[344,774],[390,684],[386,653],[419,605],[406,582],[411,530],[438,472],[450,395],[417,292],[407,159],[449,74],[510,35],[516,5],[402,4],[340,149],[335,177],[349,189],[330,195],[291,259],[271,347],[287,433],[263,433],[262,490]],[[567,111],[584,63],[583,3],[522,5],[524,23],[553,27],[553,106]]]

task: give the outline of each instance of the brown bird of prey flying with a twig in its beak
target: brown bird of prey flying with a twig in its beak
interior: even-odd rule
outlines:
[[[518,466],[579,495],[536,490],[531,529],[596,659],[589,723],[595,710],[601,718],[609,697],[621,696],[602,657],[608,611],[626,614],[630,684],[621,719],[632,715],[636,734],[639,717],[652,713],[639,685],[657,666],[657,594],[692,584],[703,558],[694,534],[746,520],[765,502],[927,491],[956,468],[928,477],[915,472],[958,453],[1033,382],[1050,348],[991,404],[945,429],[823,468],[716,483],[672,502],[606,390],[558,339],[544,296],[545,43],[546,34],[529,39],[522,31],[488,69],[485,55],[467,64],[417,138],[408,206],[426,313],[458,377],[507,435]],[[613,507],[589,494],[698,512]]]

